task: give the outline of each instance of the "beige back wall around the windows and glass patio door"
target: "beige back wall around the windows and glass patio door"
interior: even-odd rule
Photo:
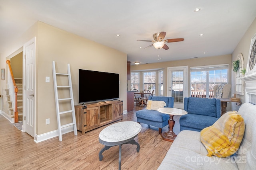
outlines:
[[[132,65],[131,70],[160,70],[162,69],[164,71],[164,96],[167,95],[167,68],[168,67],[174,67],[174,66],[188,66],[188,71],[190,67],[193,66],[206,66],[206,65],[216,65],[216,64],[229,64],[229,77],[228,77],[228,83],[231,84],[231,55],[221,55],[221,56],[215,56],[215,57],[204,57],[204,58],[196,58],[196,59],[187,59],[187,60],[179,60],[179,61],[168,61],[168,62],[162,62],[162,63],[152,63],[152,64],[139,64],[139,65]],[[140,82],[142,82],[142,72],[140,73]],[[158,74],[156,74],[158,76]],[[188,76],[188,82],[190,82],[190,77]],[[156,86],[156,95],[158,95]],[[188,89],[188,87],[187,87]],[[142,89],[142,86],[140,87],[140,90]]]

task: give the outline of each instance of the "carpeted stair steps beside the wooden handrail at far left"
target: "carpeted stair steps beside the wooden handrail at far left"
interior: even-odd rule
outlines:
[[[16,82],[16,86],[18,87],[18,94],[17,94],[17,106],[18,106],[18,115],[19,121],[22,121],[22,109],[23,109],[23,100],[22,100],[22,78],[14,78]],[[5,90],[6,92],[6,107],[8,109],[8,114],[11,118],[14,118],[14,108],[12,107],[12,102],[10,101],[9,89]]]

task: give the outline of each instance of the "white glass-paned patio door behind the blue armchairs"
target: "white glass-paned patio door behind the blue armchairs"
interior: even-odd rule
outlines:
[[[188,66],[168,67],[167,96],[174,97],[174,107],[184,108],[184,98],[187,96]]]

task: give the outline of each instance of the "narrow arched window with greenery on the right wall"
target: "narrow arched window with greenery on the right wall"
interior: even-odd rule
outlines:
[[[244,57],[240,53],[236,59],[239,60],[239,68],[236,71],[236,94],[244,95],[244,82],[240,79],[243,77],[241,70],[244,68]]]

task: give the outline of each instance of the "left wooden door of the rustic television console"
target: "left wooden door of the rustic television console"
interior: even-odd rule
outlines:
[[[100,125],[100,107],[91,107],[86,110],[86,130]]]

